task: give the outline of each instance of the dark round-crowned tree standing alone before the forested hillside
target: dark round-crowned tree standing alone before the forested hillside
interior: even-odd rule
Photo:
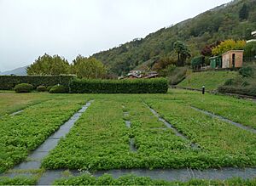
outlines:
[[[191,57],[189,47],[181,41],[174,43],[175,52],[177,53],[177,65],[183,66],[186,59]]]

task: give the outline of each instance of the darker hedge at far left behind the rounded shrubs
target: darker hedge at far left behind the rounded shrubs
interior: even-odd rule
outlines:
[[[69,82],[75,76],[0,76],[0,90],[11,90],[15,85],[20,83],[29,83],[33,87],[38,87],[44,85],[54,86],[56,84],[61,84],[68,86]]]

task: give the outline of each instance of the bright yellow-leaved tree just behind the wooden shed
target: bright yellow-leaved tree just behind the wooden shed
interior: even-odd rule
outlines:
[[[241,50],[245,47],[246,41],[238,40],[235,41],[233,39],[225,40],[221,42],[217,47],[212,48],[213,55],[221,55],[230,50]]]

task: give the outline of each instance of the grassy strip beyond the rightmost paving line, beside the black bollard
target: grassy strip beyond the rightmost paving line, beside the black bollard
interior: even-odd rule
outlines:
[[[173,91],[173,93],[172,96],[166,97],[183,100],[201,110],[256,128],[256,104],[253,101],[208,93],[205,95],[183,91]]]

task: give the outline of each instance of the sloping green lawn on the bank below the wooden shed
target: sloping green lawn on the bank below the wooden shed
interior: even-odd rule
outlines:
[[[236,77],[237,74],[238,73],[235,71],[195,72],[187,76],[186,79],[177,86],[195,89],[201,89],[202,86],[205,86],[207,91],[213,91],[224,85],[224,82],[228,79]]]

